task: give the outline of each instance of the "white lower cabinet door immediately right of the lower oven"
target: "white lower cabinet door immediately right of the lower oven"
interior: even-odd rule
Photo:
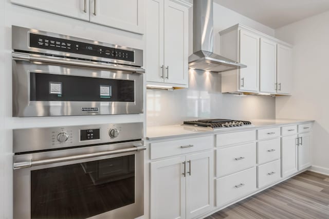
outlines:
[[[151,163],[151,218],[186,217],[185,157]]]

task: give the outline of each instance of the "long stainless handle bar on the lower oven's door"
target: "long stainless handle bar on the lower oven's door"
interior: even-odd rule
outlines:
[[[33,166],[40,166],[40,165],[47,165],[50,163],[58,163],[58,162],[64,162],[64,161],[71,161],[71,160],[80,160],[85,158],[92,158],[92,157],[100,157],[105,155],[112,155],[112,154],[121,154],[121,153],[129,153],[129,152],[139,152],[146,150],[146,146],[134,146],[133,148],[126,148],[126,149],[119,149],[114,151],[103,151],[103,152],[97,152],[92,154],[80,154],[80,155],[74,155],[74,156],[68,156],[68,157],[57,157],[57,158],[51,158],[51,159],[45,159],[45,160],[29,160],[29,161],[22,161],[22,162],[14,162],[13,169],[22,169],[22,168],[29,168]]]

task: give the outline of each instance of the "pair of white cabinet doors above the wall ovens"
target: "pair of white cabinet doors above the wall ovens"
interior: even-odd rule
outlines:
[[[139,34],[144,33],[144,1],[11,0],[13,4],[74,17],[95,24]]]

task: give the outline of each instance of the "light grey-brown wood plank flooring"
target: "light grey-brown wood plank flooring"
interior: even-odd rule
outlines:
[[[303,172],[206,218],[329,218],[329,176]]]

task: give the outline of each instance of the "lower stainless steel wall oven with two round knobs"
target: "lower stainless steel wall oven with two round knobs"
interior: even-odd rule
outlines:
[[[143,150],[142,123],[14,130],[14,218],[143,215]]]

